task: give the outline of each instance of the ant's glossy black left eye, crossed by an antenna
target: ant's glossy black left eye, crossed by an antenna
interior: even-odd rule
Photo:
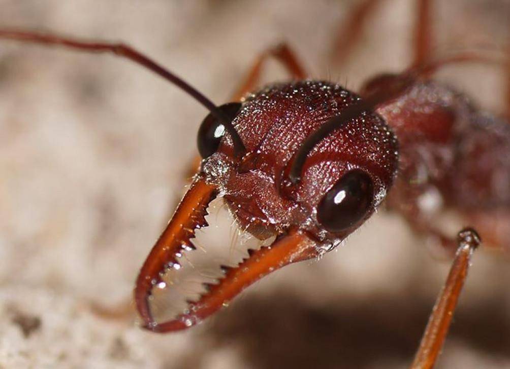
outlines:
[[[228,118],[234,120],[239,109],[241,109],[241,103],[230,102],[219,106],[218,109],[225,113]],[[197,136],[198,152],[203,159],[210,157],[218,150],[224,134],[225,126],[209,113],[206,119],[202,121]]]

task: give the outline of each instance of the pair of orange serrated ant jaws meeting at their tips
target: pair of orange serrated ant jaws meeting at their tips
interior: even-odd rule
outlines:
[[[154,332],[189,328],[214,314],[245,288],[269,273],[288,264],[320,256],[318,242],[310,233],[297,227],[277,232],[271,245],[248,250],[249,256],[236,267],[218,265],[222,276],[216,278],[215,283],[208,283],[205,293],[196,300],[188,301],[186,308],[171,320],[157,322],[152,316],[149,302],[152,289],[162,283],[168,269],[172,268],[175,274],[181,272],[179,258],[194,249],[191,239],[195,230],[208,225],[205,220],[207,207],[217,192],[216,186],[198,177],[145,261],[135,289],[135,301],[144,328]],[[207,249],[207,245],[204,246]],[[172,285],[171,281],[167,285]]]

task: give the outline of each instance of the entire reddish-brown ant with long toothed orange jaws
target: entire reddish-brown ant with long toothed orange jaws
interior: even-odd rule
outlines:
[[[198,136],[204,158],[200,171],[137,281],[135,299],[146,328],[157,332],[187,328],[272,270],[321,256],[358,228],[392,188],[387,203],[416,231],[436,235],[448,251],[457,249],[413,364],[430,367],[479,240],[471,229],[460,232],[456,241],[443,236],[420,208],[421,196],[434,191],[448,200],[445,206],[467,216],[485,210],[480,204],[507,210],[510,191],[500,188],[508,184],[504,170],[510,133],[504,122],[480,115],[462,96],[427,79],[447,63],[485,59],[463,54],[428,60],[426,13],[422,9],[413,66],[367,82],[363,100],[329,82],[296,81],[269,86],[242,103],[216,107],[173,73],[123,45],[23,31],[0,31],[0,37],[114,52],[170,80],[210,110]],[[305,78],[289,48],[278,46],[261,56],[236,97],[252,90],[269,56],[281,61],[295,79]],[[469,168],[460,165],[466,157],[471,157]],[[483,163],[477,161],[480,157]],[[500,167],[504,169],[498,170],[496,178]],[[473,178],[470,169],[483,169],[484,176]],[[260,238],[276,235],[276,240],[270,247],[250,252],[250,258],[237,268],[223,268],[225,277],[199,301],[191,302],[185,313],[156,323],[148,302],[151,290],[167,268],[180,268],[183,252],[194,248],[190,238],[196,228],[207,225],[207,206],[218,194],[243,228]],[[496,247],[505,246],[503,235],[480,231]]]

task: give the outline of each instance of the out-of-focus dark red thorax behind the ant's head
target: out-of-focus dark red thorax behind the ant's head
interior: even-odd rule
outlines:
[[[510,127],[480,112],[463,94],[433,81],[417,82],[377,113],[399,143],[398,177],[388,203],[421,216],[510,204]]]

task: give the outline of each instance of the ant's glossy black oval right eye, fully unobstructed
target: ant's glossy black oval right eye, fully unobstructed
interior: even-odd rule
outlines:
[[[317,207],[317,219],[329,232],[341,232],[358,223],[372,205],[374,185],[358,169],[345,174],[329,189]]]

